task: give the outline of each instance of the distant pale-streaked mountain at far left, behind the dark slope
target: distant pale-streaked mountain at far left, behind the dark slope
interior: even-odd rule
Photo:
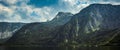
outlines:
[[[25,23],[0,22],[0,43],[10,38]]]

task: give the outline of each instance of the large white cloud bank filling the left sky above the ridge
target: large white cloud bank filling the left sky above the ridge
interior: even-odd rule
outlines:
[[[9,2],[8,7],[0,4],[0,22],[45,22],[52,18],[50,7],[37,8],[27,2],[17,5],[17,2]]]

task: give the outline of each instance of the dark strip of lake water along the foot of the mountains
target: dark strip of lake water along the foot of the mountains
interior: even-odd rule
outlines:
[[[0,50],[119,50],[119,46],[111,47],[8,47],[8,46],[0,46]]]

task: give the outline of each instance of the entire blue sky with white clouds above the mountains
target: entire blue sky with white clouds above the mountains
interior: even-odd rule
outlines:
[[[0,0],[0,22],[46,22],[58,12],[76,14],[93,3],[120,5],[120,0]]]

